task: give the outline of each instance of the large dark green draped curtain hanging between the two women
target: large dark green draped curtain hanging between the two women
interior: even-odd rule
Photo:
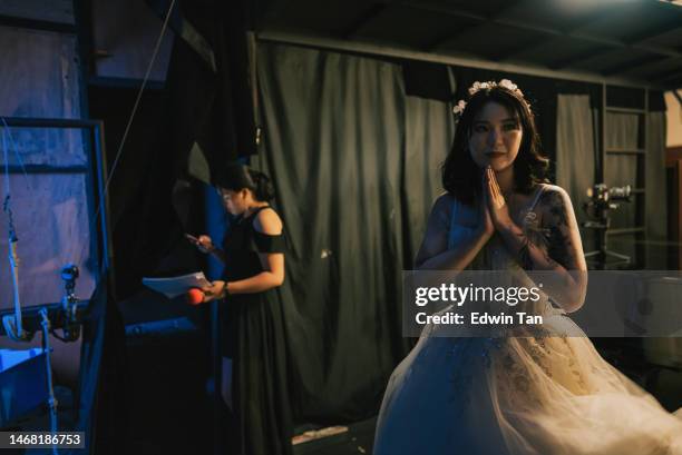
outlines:
[[[377,413],[407,354],[401,270],[411,267],[438,167],[448,105],[408,98],[401,66],[260,43],[264,142],[290,238],[282,288],[299,422]]]

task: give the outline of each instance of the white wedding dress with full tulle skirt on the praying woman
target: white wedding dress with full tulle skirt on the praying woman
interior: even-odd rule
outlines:
[[[459,202],[452,219],[456,210],[450,246],[478,219]],[[520,270],[506,251],[494,236],[470,268]],[[559,333],[582,333],[545,304]],[[681,413],[662,408],[586,336],[451,338],[438,330],[425,327],[391,375],[374,455],[682,455]]]

